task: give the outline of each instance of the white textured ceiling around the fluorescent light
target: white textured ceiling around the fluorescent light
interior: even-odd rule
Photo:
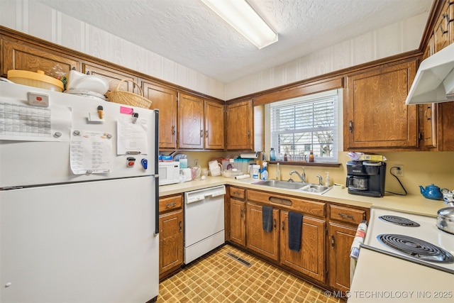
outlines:
[[[279,34],[258,50],[199,0],[38,1],[224,83],[430,11],[433,2],[248,0]]]

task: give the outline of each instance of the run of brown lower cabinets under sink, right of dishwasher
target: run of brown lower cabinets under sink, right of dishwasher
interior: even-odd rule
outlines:
[[[328,289],[349,290],[350,246],[368,209],[232,186],[229,193],[231,243]],[[273,207],[271,232],[262,228],[263,205]],[[299,251],[288,246],[289,211],[303,214]]]

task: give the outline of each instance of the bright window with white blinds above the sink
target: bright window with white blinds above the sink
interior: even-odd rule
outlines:
[[[336,162],[338,158],[338,92],[333,90],[270,104],[270,143],[293,161]]]

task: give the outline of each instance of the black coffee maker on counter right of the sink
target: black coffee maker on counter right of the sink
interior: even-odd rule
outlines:
[[[349,194],[367,197],[384,196],[385,162],[348,161],[347,187]]]

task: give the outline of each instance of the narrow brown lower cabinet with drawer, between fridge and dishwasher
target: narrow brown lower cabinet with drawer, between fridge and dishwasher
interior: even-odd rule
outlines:
[[[159,277],[179,270],[183,264],[183,196],[177,194],[159,199]]]

